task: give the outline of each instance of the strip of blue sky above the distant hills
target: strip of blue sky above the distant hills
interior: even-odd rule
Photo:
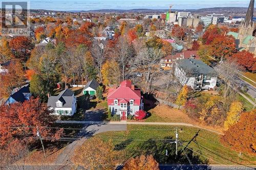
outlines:
[[[23,0],[26,1],[26,0]],[[96,10],[96,9],[200,9],[213,7],[248,7],[250,0],[30,0],[30,9],[46,10]]]

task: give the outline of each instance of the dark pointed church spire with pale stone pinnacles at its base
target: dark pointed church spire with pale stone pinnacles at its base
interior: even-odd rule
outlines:
[[[251,35],[255,36],[255,23],[253,22],[253,9],[254,0],[250,0],[249,7],[246,12],[245,20],[242,22],[241,28],[239,30],[240,35]]]

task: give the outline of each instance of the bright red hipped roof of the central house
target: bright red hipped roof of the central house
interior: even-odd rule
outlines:
[[[108,99],[140,99],[140,90],[132,89],[132,82],[125,80],[120,83],[120,87],[112,90],[108,94]]]

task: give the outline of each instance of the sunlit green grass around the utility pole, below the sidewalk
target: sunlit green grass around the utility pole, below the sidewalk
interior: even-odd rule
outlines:
[[[193,138],[193,136],[197,133],[198,128],[191,128],[191,127],[178,127],[179,131],[179,139],[184,141],[183,144],[186,144],[188,140]],[[127,125],[127,131],[115,131],[115,132],[105,132],[97,135],[98,137],[102,138],[103,140],[112,139],[115,145],[121,145],[123,150],[120,151],[120,157],[123,158],[122,161],[126,161],[131,156],[135,154],[140,154],[139,146],[143,146],[146,141],[149,139],[153,139],[155,141],[160,141],[166,137],[175,138],[175,126],[143,126],[143,125]],[[255,164],[255,159],[252,156],[248,156],[242,154],[241,157],[238,156],[238,153],[230,150],[227,147],[222,146],[222,143],[219,141],[220,135],[201,130],[197,137],[198,144],[203,146],[204,148],[208,149],[209,151],[200,147],[198,148],[197,144],[191,142],[188,147],[193,149],[194,151],[201,152],[202,155],[210,158],[208,159],[208,163],[211,164],[236,164],[229,160],[226,160],[222,157],[230,159],[235,162],[244,163],[244,164]],[[173,143],[173,145],[175,145]],[[173,147],[172,145],[172,147]],[[150,150],[151,148],[148,148]],[[165,149],[161,155],[164,157]],[[181,147],[179,147],[181,151]],[[173,151],[168,151],[169,153]],[[222,157],[219,157],[214,152],[219,154]],[[196,153],[195,153],[196,154]],[[196,154],[197,155],[197,154]],[[203,156],[199,156],[200,159],[204,160]],[[212,160],[211,160],[212,159]],[[173,160],[175,162],[175,160]],[[254,161],[254,162],[253,162]],[[164,162],[160,162],[164,163]],[[193,163],[193,162],[192,162]],[[195,162],[194,162],[195,163]]]

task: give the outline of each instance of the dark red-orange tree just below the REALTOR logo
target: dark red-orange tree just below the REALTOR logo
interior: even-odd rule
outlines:
[[[30,52],[34,47],[32,41],[25,36],[13,38],[9,45],[15,58],[19,59],[22,63],[28,60]]]

